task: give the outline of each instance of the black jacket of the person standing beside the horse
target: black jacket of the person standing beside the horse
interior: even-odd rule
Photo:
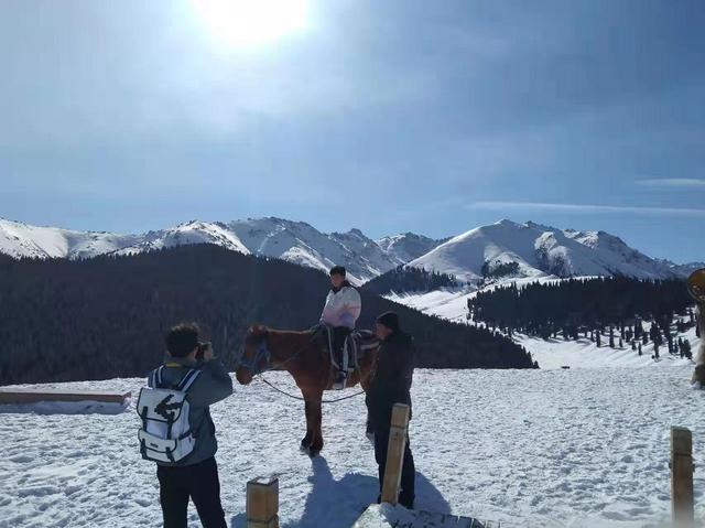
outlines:
[[[375,376],[365,399],[375,429],[388,429],[394,403],[411,407],[414,374],[414,340],[398,331],[380,346]]]

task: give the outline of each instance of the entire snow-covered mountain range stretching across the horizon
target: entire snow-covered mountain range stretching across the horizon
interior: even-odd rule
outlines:
[[[325,234],[304,222],[275,217],[230,223],[192,220],[140,235],[35,227],[0,219],[0,252],[12,257],[89,258],[184,244],[216,244],[321,270],[343,265],[356,283],[406,262],[467,281],[487,273],[499,279],[610,274],[654,279],[687,277],[705,267],[701,262],[675,265],[652,259],[605,231],[557,229],[532,222],[500,220],[444,240],[413,233],[372,240],[359,229]]]

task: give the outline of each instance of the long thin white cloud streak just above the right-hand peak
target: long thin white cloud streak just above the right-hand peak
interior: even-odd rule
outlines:
[[[705,209],[679,207],[630,207],[620,205],[558,204],[544,202],[475,202],[468,207],[486,211],[547,211],[577,215],[628,214],[640,216],[705,218]]]

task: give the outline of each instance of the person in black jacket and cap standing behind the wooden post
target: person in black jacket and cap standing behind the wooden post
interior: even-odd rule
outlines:
[[[377,357],[375,377],[367,391],[366,403],[375,432],[375,460],[379,465],[381,496],[392,408],[394,403],[405,403],[411,407],[414,343],[413,337],[399,327],[399,316],[394,312],[387,312],[377,317],[376,333],[382,343]],[[414,459],[406,439],[399,504],[409,509],[413,508],[415,498],[415,472]]]

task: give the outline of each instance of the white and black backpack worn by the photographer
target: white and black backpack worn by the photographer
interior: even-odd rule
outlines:
[[[138,432],[142,459],[153,462],[176,463],[188,456],[196,444],[196,437],[188,423],[188,389],[200,374],[192,368],[173,389],[160,388],[162,365],[152,371],[148,387],[140,390],[137,412],[142,419]]]

